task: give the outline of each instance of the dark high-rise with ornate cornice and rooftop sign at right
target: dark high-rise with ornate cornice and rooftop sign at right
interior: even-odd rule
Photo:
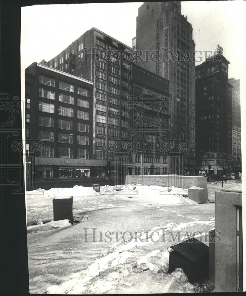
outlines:
[[[232,172],[232,86],[228,81],[229,64],[223,55],[217,55],[196,66],[197,174]]]

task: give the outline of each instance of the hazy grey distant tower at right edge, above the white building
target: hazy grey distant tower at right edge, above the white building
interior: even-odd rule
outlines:
[[[230,78],[232,89],[232,125],[241,128],[240,79]]]

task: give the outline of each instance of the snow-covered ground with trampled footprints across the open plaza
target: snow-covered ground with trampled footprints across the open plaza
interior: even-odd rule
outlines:
[[[220,186],[207,186],[210,201]],[[168,274],[168,261],[170,246],[189,237],[208,245],[208,231],[214,229],[214,203],[198,205],[185,197],[187,189],[167,192],[155,185],[121,189],[103,186],[97,193],[91,187],[74,186],[26,194],[31,293],[211,290],[205,280],[189,283],[182,270]],[[66,195],[74,197],[73,214],[78,223],[73,225],[68,220],[52,221],[52,199]]]

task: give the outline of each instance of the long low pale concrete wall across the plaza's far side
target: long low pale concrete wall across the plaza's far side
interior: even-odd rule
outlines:
[[[125,184],[159,185],[163,187],[190,188],[192,186],[207,189],[207,177],[180,175],[139,175],[126,176]]]

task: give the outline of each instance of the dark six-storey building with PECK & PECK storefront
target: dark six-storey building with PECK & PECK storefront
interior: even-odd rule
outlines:
[[[91,81],[38,63],[25,70],[26,155],[35,156],[36,178],[106,173],[106,161],[90,149],[92,96]]]

